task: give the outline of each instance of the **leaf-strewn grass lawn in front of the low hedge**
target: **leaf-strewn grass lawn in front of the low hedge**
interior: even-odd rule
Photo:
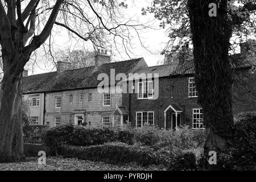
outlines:
[[[38,158],[27,158],[27,162],[0,163],[0,171],[159,171],[158,166],[141,167],[136,164],[113,165],[76,158],[48,157],[46,165],[39,165]]]

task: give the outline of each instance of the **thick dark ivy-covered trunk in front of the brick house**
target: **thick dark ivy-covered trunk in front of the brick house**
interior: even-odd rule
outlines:
[[[217,17],[209,16],[210,3],[216,3]],[[233,80],[228,59],[231,29],[226,6],[226,0],[188,0],[195,82],[207,130],[205,156],[209,151],[216,151],[218,156],[218,152],[225,152],[232,142]]]

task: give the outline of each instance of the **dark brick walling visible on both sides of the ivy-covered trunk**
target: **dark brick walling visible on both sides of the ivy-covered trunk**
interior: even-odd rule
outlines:
[[[154,124],[164,128],[164,110],[171,104],[179,104],[183,109],[181,125],[192,127],[193,109],[200,109],[197,97],[188,97],[188,78],[162,77],[159,78],[159,98],[157,100],[139,100],[137,94],[123,94],[122,102],[130,107],[130,122],[135,126],[137,111],[154,111]],[[233,84],[233,113],[256,110],[256,74],[251,74],[249,69],[236,71]],[[130,99],[130,104],[129,104]],[[167,113],[167,127],[170,122],[170,112]],[[170,124],[170,123],[169,123]]]

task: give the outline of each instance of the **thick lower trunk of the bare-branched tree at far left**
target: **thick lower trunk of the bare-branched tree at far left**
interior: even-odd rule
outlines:
[[[5,59],[7,56],[3,56],[3,62]],[[12,62],[15,63],[15,60]],[[21,119],[22,72],[15,74],[13,70],[11,65],[5,64],[0,107],[0,162],[24,159]]]

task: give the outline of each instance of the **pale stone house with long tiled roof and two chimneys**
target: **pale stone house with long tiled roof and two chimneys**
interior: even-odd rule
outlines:
[[[99,93],[97,86],[101,80],[97,77],[100,73],[110,75],[112,70],[115,75],[128,75],[147,64],[143,58],[110,63],[110,56],[99,54],[92,67],[68,67],[69,63],[61,61],[56,72],[23,77],[23,98],[30,100],[32,124],[120,125],[121,116],[113,118],[112,113],[117,105],[122,106],[122,93]],[[124,119],[127,120],[127,114]]]

